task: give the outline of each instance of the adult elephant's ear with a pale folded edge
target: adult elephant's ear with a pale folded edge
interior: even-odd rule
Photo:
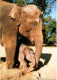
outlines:
[[[9,17],[16,21],[16,25],[19,25],[22,21],[22,7],[19,7],[14,4],[11,12],[9,13]]]

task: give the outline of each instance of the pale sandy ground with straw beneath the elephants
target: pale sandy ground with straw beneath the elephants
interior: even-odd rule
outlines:
[[[31,46],[30,46],[31,47]],[[35,47],[31,47],[35,51]],[[24,69],[7,69],[6,61],[0,62],[1,80],[36,80],[36,79],[56,79],[57,71],[57,48],[56,47],[43,47],[42,55],[38,68],[32,72],[22,74]],[[5,57],[5,49],[0,45],[0,57]]]

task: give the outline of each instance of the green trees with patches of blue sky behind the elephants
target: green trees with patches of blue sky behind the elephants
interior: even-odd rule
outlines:
[[[44,45],[56,45],[56,0],[5,0],[18,5],[34,4],[43,12],[43,39]],[[54,10],[55,9],[55,10]],[[53,15],[51,16],[53,11]],[[55,12],[54,12],[55,11]],[[18,37],[20,39],[20,37]],[[24,39],[22,39],[24,40]]]

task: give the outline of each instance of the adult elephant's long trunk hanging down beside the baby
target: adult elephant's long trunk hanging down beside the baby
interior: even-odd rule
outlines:
[[[42,21],[39,20],[39,23],[37,23],[36,30],[34,33],[34,42],[35,42],[35,60],[36,60],[36,66],[38,65],[41,53],[42,53],[42,47],[43,47],[43,35],[42,35]]]

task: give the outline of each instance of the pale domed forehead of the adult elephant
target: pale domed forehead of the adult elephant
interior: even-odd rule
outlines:
[[[27,19],[35,21],[39,18],[41,11],[35,5],[26,5],[23,7],[23,13],[24,13],[24,18],[26,17]]]

